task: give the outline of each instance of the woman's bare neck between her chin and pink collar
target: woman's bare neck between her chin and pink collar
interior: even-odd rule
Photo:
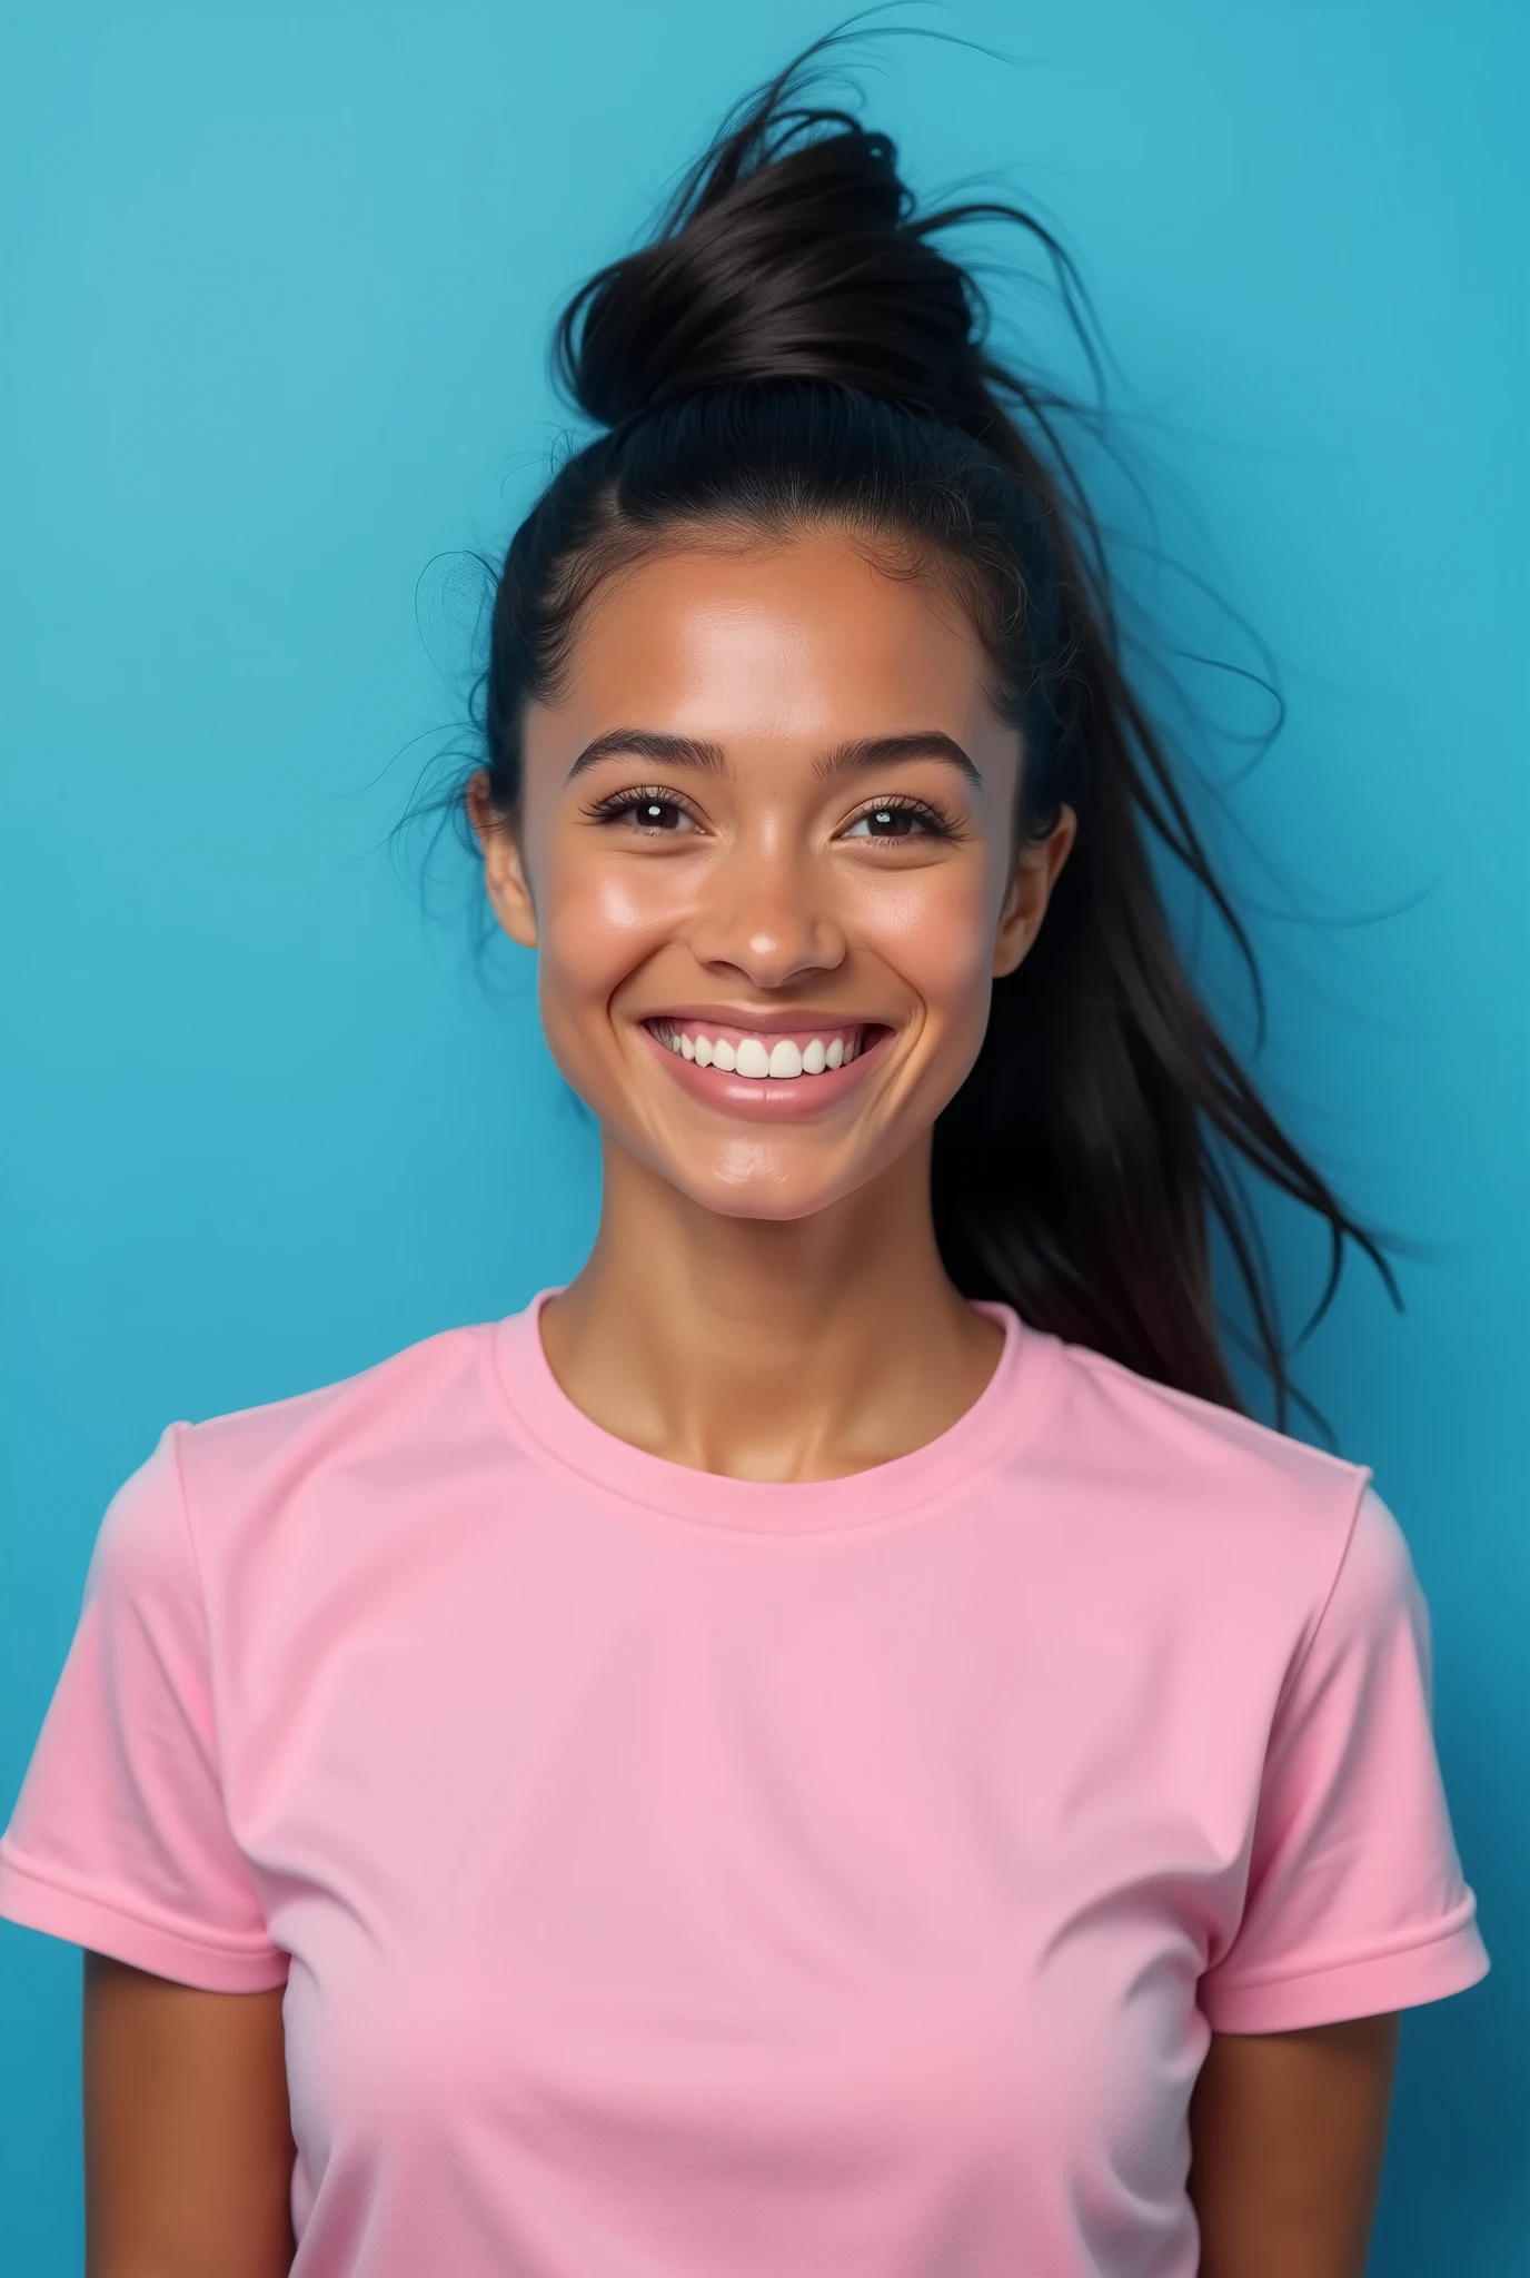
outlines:
[[[735,1478],[833,1478],[922,1447],[972,1406],[1000,1330],[952,1285],[929,1146],[808,1219],[729,1219],[606,1144],[601,1228],[542,1314],[597,1424]]]

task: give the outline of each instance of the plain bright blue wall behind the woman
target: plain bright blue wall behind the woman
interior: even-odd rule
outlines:
[[[820,0],[7,11],[0,1804],[100,1510],[168,1417],[508,1312],[583,1253],[594,1146],[528,975],[478,977],[464,863],[421,911],[385,847],[471,647],[471,588],[428,565],[503,544],[533,492],[560,294],[826,21]],[[1163,533],[1291,702],[1220,834],[1268,961],[1261,1066],[1355,1203],[1423,1246],[1402,1317],[1352,1278],[1305,1383],[1430,1595],[1494,1955],[1407,2021],[1373,2269],[1507,2278],[1530,2262],[1530,18],[961,0],[924,21],[1018,62],[890,41],[879,118],[915,180],[1006,169],[1059,221]],[[1122,563],[1168,638],[1239,654],[1191,583]],[[1257,724],[1232,683],[1202,693]],[[1268,1226],[1311,1296],[1309,1237]],[[0,1968],[0,2264],[64,2278],[77,1957],[5,1929]]]

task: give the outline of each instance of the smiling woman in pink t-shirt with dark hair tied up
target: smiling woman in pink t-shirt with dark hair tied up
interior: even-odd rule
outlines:
[[[496,597],[592,1257],[100,1535],[0,1884],[93,2278],[1343,2278],[1487,1968],[1405,1542],[1216,1333],[1209,1221],[1284,1394],[1234,1157],[1368,1242],[1173,950],[1045,405],[799,93],[571,303]]]

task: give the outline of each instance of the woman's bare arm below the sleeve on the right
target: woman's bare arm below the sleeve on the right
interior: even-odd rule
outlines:
[[[1214,2032],[1191,2098],[1200,2278],[1364,2278],[1396,2016]]]

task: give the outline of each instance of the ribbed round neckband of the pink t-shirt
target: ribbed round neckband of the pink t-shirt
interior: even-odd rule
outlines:
[[[517,1440],[551,1469],[569,1472],[626,1506],[710,1531],[763,1538],[840,1533],[906,1517],[947,1501],[1031,1437],[1059,1374],[1056,1337],[1027,1328],[1011,1305],[981,1301],[1004,1330],[993,1376],[963,1415],[924,1447],[840,1478],[754,1481],[697,1472],[619,1440],[585,1415],[553,1376],[542,1346],[542,1308],[560,1285],[540,1289],[524,1312],[492,1324],[487,1362]]]

